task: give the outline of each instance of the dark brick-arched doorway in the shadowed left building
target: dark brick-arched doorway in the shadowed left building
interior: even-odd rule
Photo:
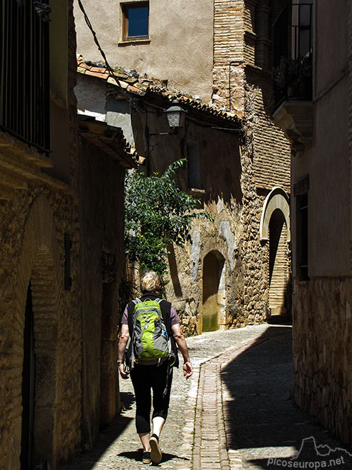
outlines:
[[[27,217],[15,286],[23,319],[23,413],[18,436],[21,470],[32,469],[39,462],[56,466],[60,260],[54,217],[46,198],[39,197]]]

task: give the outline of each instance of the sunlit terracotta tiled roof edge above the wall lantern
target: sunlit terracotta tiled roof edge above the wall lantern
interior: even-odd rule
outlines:
[[[146,75],[139,75],[135,70],[127,72],[126,70],[115,67],[115,77],[112,77],[103,63],[92,63],[85,61],[82,56],[78,56],[77,71],[84,73],[84,75],[92,75],[93,77],[106,80],[108,83],[119,87],[124,92],[132,95],[135,94],[139,97],[161,97],[168,99],[168,101],[177,99],[180,104],[185,104],[191,109],[209,113],[211,116],[224,119],[228,123],[232,123],[232,125],[237,125],[238,128],[241,127],[241,118],[237,115],[228,113],[224,109],[220,109],[219,106],[204,104],[199,98],[191,97],[191,95],[175,89],[170,89],[165,86],[165,82],[155,78],[149,78]]]

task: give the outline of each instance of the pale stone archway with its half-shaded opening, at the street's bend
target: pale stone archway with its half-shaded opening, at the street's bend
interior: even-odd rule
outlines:
[[[269,242],[269,309],[271,315],[287,314],[289,283],[287,242],[290,241],[289,197],[275,187],[266,197],[260,221],[260,240]]]

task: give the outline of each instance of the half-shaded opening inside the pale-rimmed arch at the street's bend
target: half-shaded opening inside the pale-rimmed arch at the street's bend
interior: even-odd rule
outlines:
[[[272,315],[286,314],[287,228],[284,214],[276,209],[269,223],[269,308]]]

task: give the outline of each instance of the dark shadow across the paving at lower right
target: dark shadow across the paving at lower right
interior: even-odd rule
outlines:
[[[330,457],[339,458],[341,452],[332,452],[328,458],[317,454],[315,443],[330,449],[338,443],[293,402],[291,342],[291,328],[270,327],[222,369],[222,382],[231,397],[224,403],[227,445],[230,450],[240,449],[243,459],[256,469],[295,468],[294,462],[301,464],[296,468],[324,468],[324,464],[304,466],[304,462],[323,461],[327,467],[351,469],[348,455],[345,466],[332,466]],[[292,461],[291,456],[300,450]]]

